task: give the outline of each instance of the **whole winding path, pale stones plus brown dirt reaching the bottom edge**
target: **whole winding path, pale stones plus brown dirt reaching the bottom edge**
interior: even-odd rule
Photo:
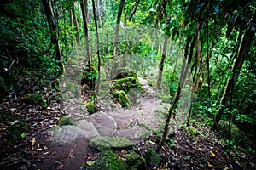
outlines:
[[[48,149],[37,152],[35,156],[41,160],[34,164],[34,169],[79,169],[84,166],[88,142],[99,135],[124,137],[134,143],[148,138],[159,123],[154,111],[160,107],[160,99],[145,79],[139,78],[139,81],[144,92],[137,105],[91,116],[76,114],[74,118],[79,121],[75,126],[63,126],[55,133],[50,132],[46,139]],[[45,141],[42,138],[38,142],[40,140]]]

